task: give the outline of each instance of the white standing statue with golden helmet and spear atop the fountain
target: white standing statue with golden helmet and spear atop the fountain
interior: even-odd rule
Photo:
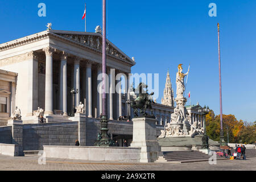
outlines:
[[[187,73],[182,73],[183,68],[181,66],[182,64],[178,65],[178,72],[176,73],[176,85],[177,85],[177,89],[176,89],[176,94],[177,94],[177,98],[182,98],[183,97],[183,93],[185,91],[185,85],[184,85],[184,77],[186,75],[188,75],[189,69]]]

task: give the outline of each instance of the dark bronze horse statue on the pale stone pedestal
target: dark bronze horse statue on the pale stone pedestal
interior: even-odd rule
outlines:
[[[146,88],[146,93],[142,93],[143,88]],[[148,94],[147,85],[143,84],[142,82],[139,83],[137,90],[139,91],[138,97],[133,102],[131,102],[131,107],[133,107],[133,113],[137,117],[139,116],[139,114],[143,114],[144,116],[146,116],[148,115],[146,113],[146,109],[149,108],[151,110],[151,116],[154,116],[151,103],[155,103],[155,102],[151,98],[149,98],[149,96],[154,95],[154,92],[151,92],[151,94]],[[139,112],[138,109],[140,109],[141,111]]]

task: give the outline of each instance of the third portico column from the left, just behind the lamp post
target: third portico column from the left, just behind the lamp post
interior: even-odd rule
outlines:
[[[80,102],[80,58],[76,57],[74,61],[74,89],[78,89],[79,93],[75,94],[75,106]]]

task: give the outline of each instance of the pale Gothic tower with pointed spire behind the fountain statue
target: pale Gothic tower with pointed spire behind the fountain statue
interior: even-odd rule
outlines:
[[[169,69],[167,72],[166,87],[164,88],[162,104],[174,107],[174,90],[172,90],[172,83],[171,83],[171,78],[169,74]]]

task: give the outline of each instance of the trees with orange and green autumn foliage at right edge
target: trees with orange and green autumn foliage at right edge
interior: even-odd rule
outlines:
[[[212,140],[220,140],[220,115],[215,115],[213,110],[205,116],[207,135]],[[246,125],[247,122],[238,121],[232,114],[222,114],[222,126],[225,141],[229,143],[254,143],[256,141],[256,122]],[[229,135],[229,136],[228,136]]]

